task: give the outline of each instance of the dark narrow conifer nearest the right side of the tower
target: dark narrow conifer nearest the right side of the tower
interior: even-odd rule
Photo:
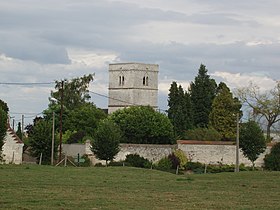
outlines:
[[[190,95],[176,82],[171,84],[168,94],[168,118],[174,126],[176,136],[185,137],[185,131],[192,128]]]

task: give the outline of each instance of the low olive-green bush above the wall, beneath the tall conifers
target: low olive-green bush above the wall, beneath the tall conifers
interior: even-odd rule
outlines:
[[[220,141],[222,135],[214,128],[195,128],[186,132],[186,138],[201,141]]]

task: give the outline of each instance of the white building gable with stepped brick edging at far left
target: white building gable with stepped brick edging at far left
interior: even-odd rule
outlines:
[[[15,131],[8,127],[2,147],[3,162],[6,164],[21,164],[24,143],[16,135]]]

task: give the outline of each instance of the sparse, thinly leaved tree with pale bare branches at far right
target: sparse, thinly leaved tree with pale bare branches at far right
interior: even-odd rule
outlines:
[[[280,81],[270,91],[262,92],[257,85],[251,83],[248,87],[239,88],[237,94],[245,105],[253,109],[254,116],[265,118],[266,140],[271,141],[271,127],[280,121]]]

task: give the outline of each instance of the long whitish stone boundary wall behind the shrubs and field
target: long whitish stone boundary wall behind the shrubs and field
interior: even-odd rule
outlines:
[[[271,150],[272,145],[268,145],[265,152],[255,161],[255,165],[260,167],[263,165],[263,158]],[[91,151],[91,144],[87,141],[85,144],[63,144],[63,153],[68,156],[81,156],[86,154],[90,157],[93,164],[102,163],[95,158]],[[181,149],[185,152],[188,160],[192,162],[200,162],[204,164],[235,164],[236,147],[234,142],[218,142],[218,141],[189,141],[178,140],[176,145],[151,145],[151,144],[120,144],[120,152],[114,161],[124,160],[128,154],[138,154],[152,162],[157,162],[161,158],[168,156],[174,149]],[[246,166],[252,163],[244,157],[242,151],[239,151],[239,162]]]

